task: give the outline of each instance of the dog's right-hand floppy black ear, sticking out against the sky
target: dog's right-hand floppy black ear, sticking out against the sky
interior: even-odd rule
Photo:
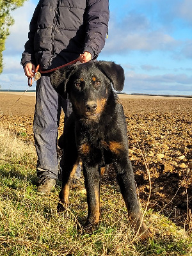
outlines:
[[[123,90],[125,82],[124,68],[112,61],[97,61],[95,65],[109,78],[116,91],[121,92]]]

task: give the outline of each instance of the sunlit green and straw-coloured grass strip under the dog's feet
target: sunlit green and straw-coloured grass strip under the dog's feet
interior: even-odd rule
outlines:
[[[115,182],[102,184],[100,223],[87,234],[84,189],[72,189],[69,209],[57,214],[60,184],[51,196],[38,195],[33,145],[1,129],[0,150],[1,255],[192,255],[191,234],[152,209],[145,214],[152,239],[134,239]]]

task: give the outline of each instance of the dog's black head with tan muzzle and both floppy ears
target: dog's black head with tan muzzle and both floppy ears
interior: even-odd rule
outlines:
[[[124,69],[114,62],[95,61],[68,66],[51,74],[51,84],[61,97],[68,97],[74,112],[83,118],[100,116],[109,94],[111,83],[120,92],[124,88]]]

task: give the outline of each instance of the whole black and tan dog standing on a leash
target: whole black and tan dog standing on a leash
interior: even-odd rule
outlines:
[[[123,68],[108,61],[88,62],[55,71],[51,83],[62,97],[68,93],[73,109],[60,145],[64,148],[64,172],[58,210],[68,204],[70,182],[81,159],[88,203],[86,226],[96,225],[100,216],[101,169],[113,163],[129,218],[141,237],[147,237],[128,157],[124,110],[111,87],[112,83],[116,91],[122,91]]]

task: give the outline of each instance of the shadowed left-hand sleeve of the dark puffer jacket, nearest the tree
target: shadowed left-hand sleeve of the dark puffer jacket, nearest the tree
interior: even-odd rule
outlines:
[[[40,2],[37,4],[35,8],[35,12],[33,13],[33,17],[29,24],[29,33],[28,33],[28,41],[24,45],[24,52],[22,53],[22,58],[20,64],[24,67],[27,63],[36,64],[35,61],[35,53],[34,53],[34,36],[37,28],[37,20],[40,12]]]

